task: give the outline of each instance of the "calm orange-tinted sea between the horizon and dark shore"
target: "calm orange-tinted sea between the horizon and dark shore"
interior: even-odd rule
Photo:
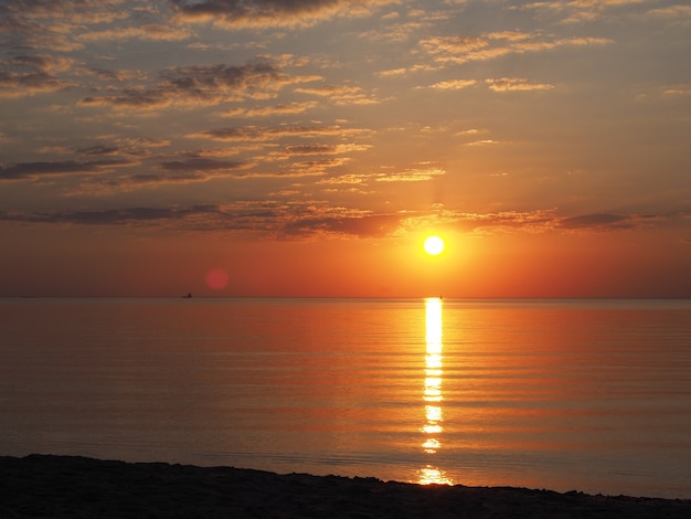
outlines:
[[[0,454],[691,498],[691,300],[0,299]]]

